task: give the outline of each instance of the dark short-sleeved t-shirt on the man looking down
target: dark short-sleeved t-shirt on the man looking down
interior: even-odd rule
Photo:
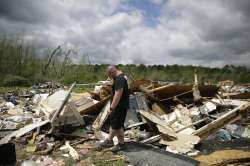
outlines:
[[[111,103],[113,101],[115,91],[121,88],[123,88],[123,93],[116,108],[128,109],[129,108],[128,82],[124,74],[120,74],[114,78],[114,83],[112,85],[112,92],[111,92]]]

